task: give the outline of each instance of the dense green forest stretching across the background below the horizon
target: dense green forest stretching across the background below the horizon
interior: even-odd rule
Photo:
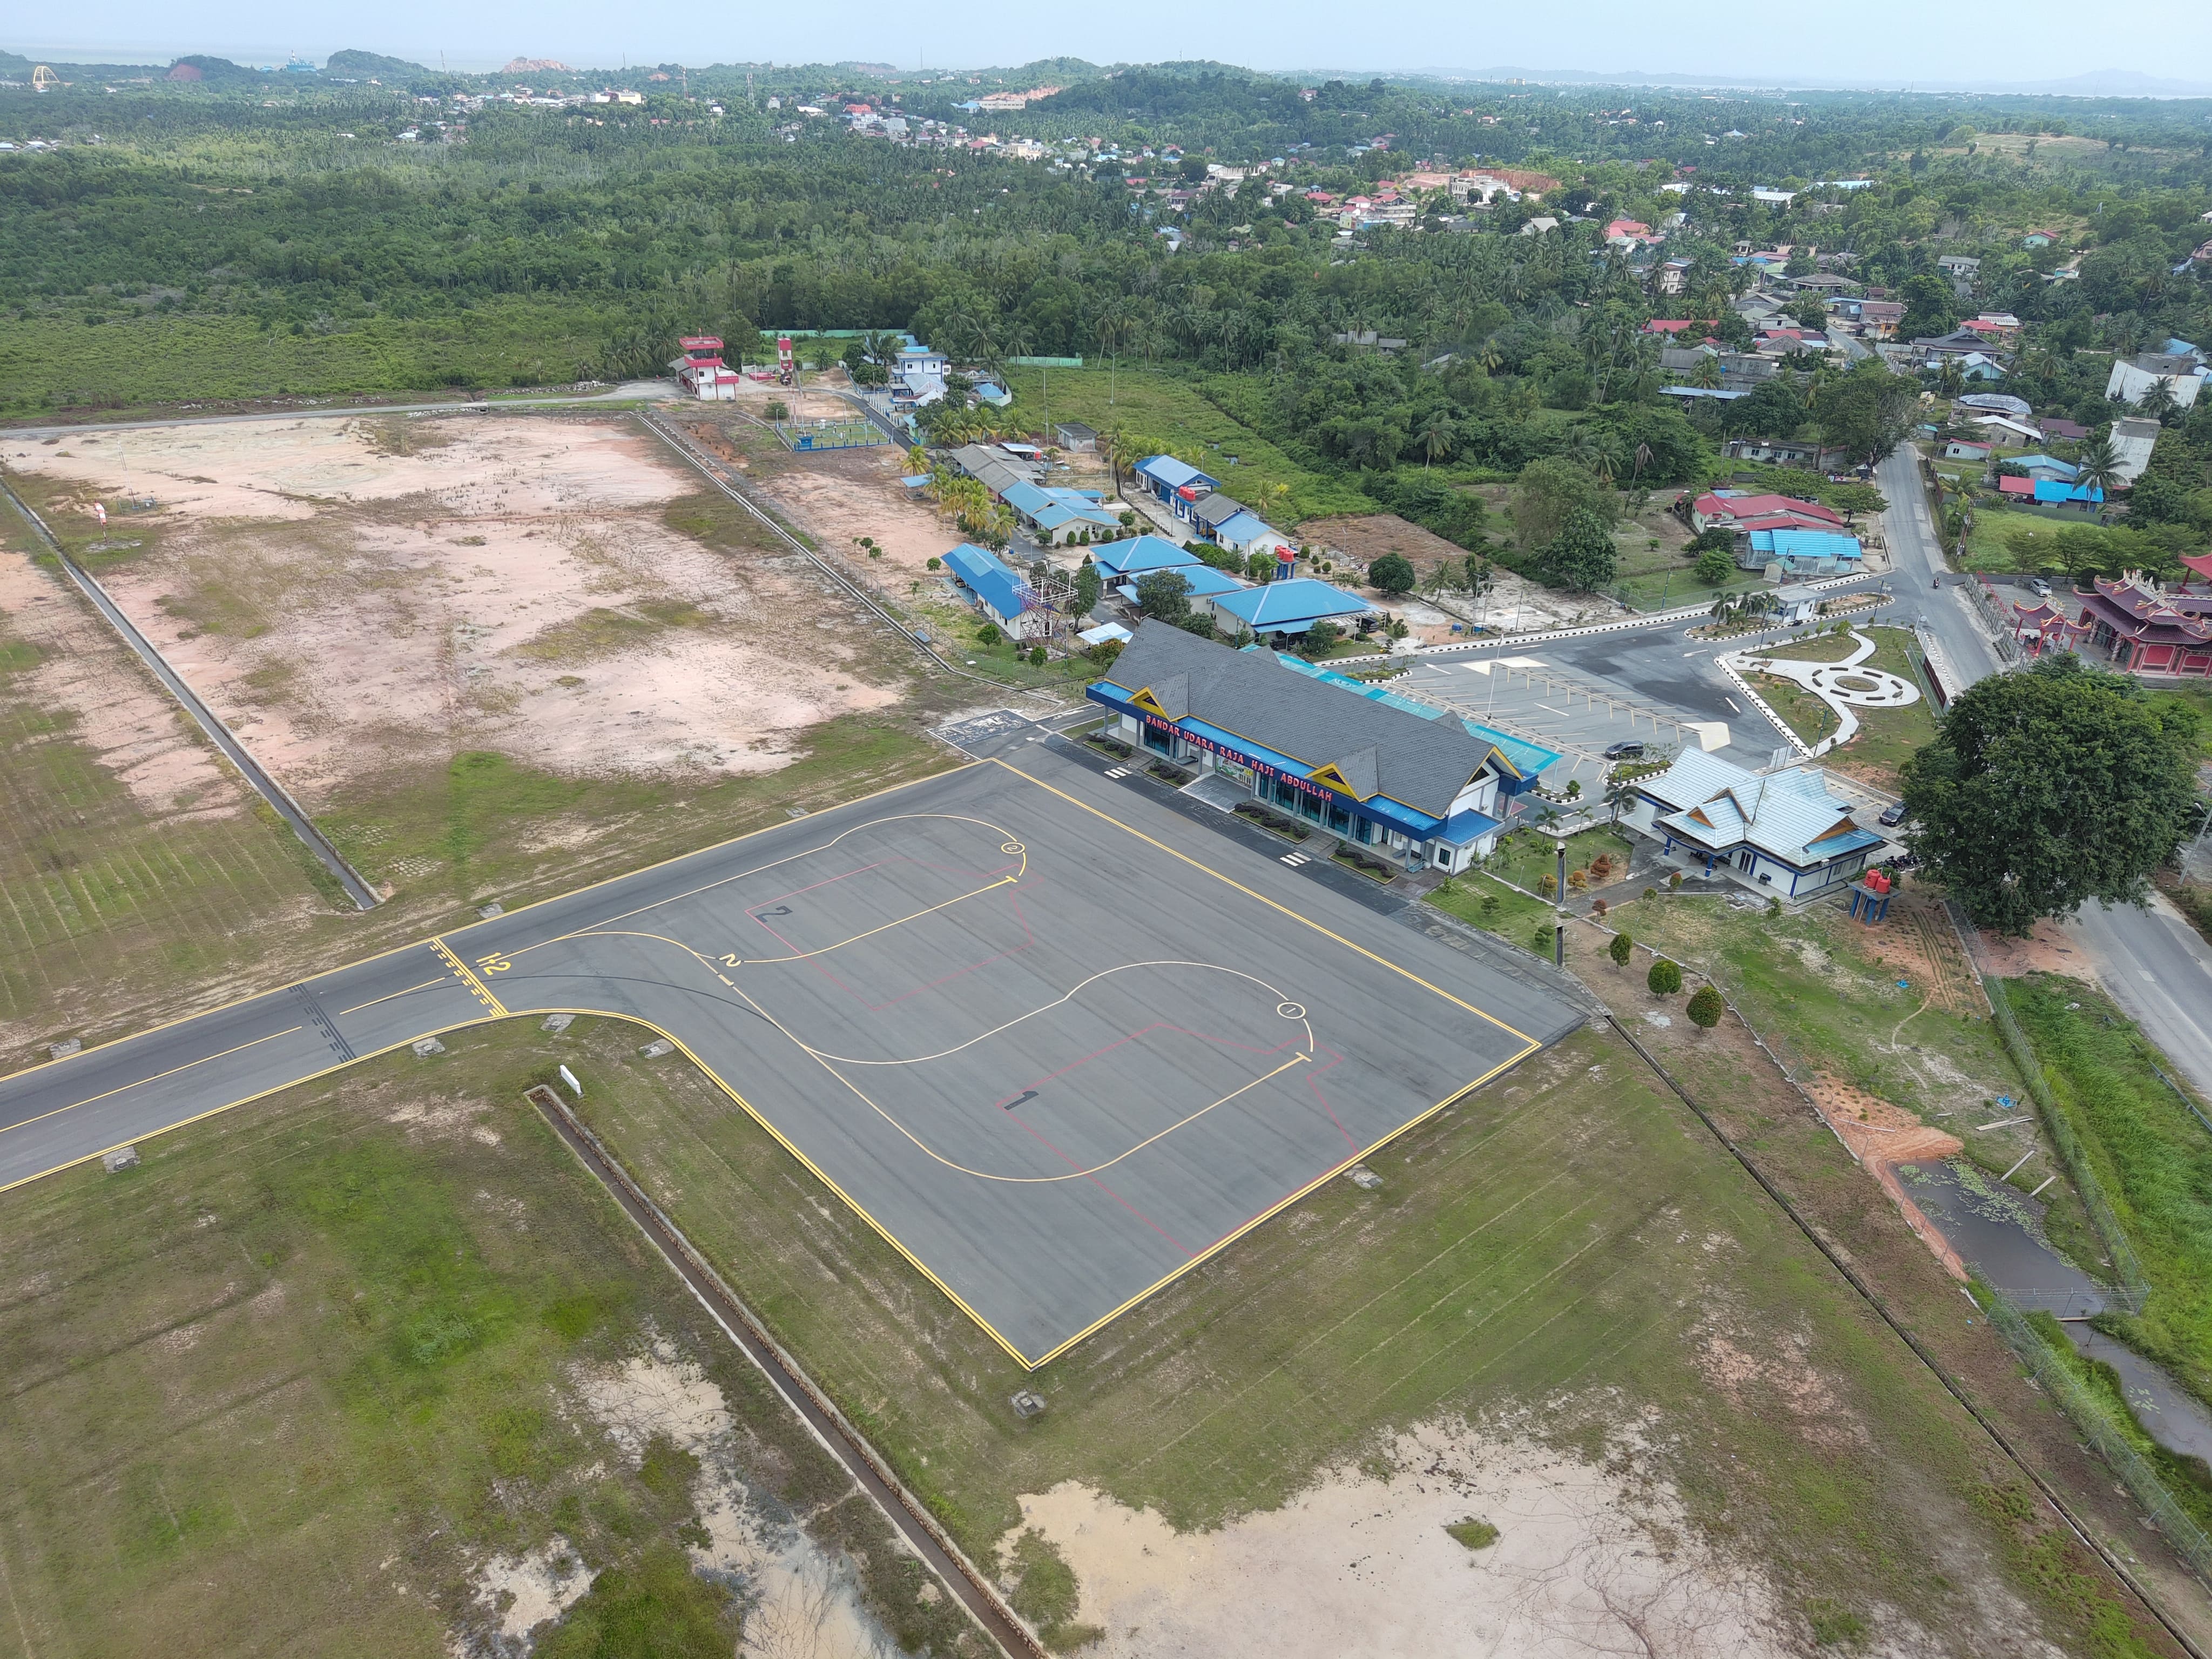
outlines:
[[[1183,380],[1316,478],[1482,546],[1469,487],[1531,462],[1628,504],[1714,478],[1728,436],[1818,431],[1858,460],[1898,442],[1913,387],[1869,358],[1807,354],[1728,405],[1661,396],[1670,341],[1646,325],[1710,319],[1717,347],[1747,345],[1747,248],[1805,270],[1847,254],[1929,330],[1960,310],[1936,259],[1973,250],[1980,305],[2022,321],[2006,389],[2086,425],[2115,414],[2112,354],[2212,327],[2212,265],[2190,259],[2212,146],[2188,102],[1301,88],[1055,60],[933,80],[664,66],[599,115],[367,53],[330,69],[383,75],[303,86],[195,62],[181,88],[0,91],[0,128],[53,146],[0,155],[4,414],[622,380],[688,332],[759,361],[761,330],[911,330],[978,365]],[[1044,75],[1062,91],[1020,115],[962,108]],[[790,119],[803,100],[902,111],[918,135]],[[945,137],[958,122],[1042,155]],[[1482,215],[1431,190],[1411,226],[1358,237],[1316,210],[1471,164],[1559,188]],[[1517,234],[1537,212],[1557,228]],[[1668,226],[1677,296],[1608,246],[1613,221]],[[2059,239],[2028,250],[2024,228]],[[1358,345],[1376,336],[1409,347]],[[2183,445],[2192,495],[2212,445]]]

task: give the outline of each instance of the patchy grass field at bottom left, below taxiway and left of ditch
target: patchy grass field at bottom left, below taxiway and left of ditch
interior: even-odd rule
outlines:
[[[465,1033],[0,1199],[0,1652],[489,1655],[535,1551],[604,1575],[538,1652],[703,1659],[776,1582],[692,1571],[745,1517],[982,1655],[520,1102],[639,1037]]]

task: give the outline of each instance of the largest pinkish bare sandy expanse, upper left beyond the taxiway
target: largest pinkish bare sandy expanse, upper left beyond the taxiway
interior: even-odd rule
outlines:
[[[42,473],[148,487],[170,533],[106,582],[288,787],[495,748],[566,774],[763,772],[896,690],[854,617],[661,509],[617,420],[447,416],[95,434]],[[832,622],[818,628],[818,622]]]

